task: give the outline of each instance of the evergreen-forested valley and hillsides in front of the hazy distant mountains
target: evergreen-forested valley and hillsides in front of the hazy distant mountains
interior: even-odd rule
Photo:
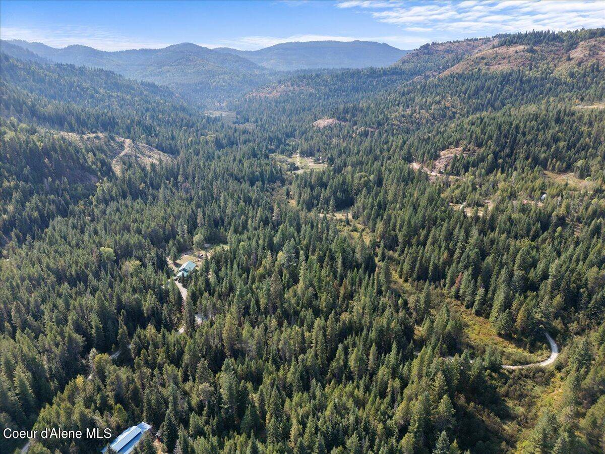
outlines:
[[[212,117],[2,55],[0,429],[146,421],[149,454],[603,452],[603,35],[425,45]],[[477,64],[511,46],[531,64]],[[116,171],[116,137],[169,158]],[[545,332],[560,354],[532,367]]]

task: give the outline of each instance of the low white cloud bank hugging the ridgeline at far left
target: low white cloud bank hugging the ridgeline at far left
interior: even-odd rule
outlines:
[[[157,41],[140,41],[127,36],[117,35],[102,28],[62,25],[52,28],[0,28],[2,39],[23,39],[24,41],[43,42],[51,47],[67,47],[80,44],[99,50],[127,50],[142,48],[161,48],[169,44]]]

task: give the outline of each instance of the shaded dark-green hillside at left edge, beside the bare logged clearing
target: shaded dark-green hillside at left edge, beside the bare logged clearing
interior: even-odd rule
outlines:
[[[0,128],[0,244],[35,237],[110,175],[103,146],[84,146],[15,119]]]

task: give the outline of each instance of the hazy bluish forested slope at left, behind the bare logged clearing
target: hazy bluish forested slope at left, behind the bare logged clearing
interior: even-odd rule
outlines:
[[[36,64],[0,55],[0,115],[74,133],[104,132],[138,140],[168,154],[179,144],[166,125],[203,136],[218,120],[198,117],[169,88],[136,82],[111,71]],[[144,137],[144,140],[142,140]]]

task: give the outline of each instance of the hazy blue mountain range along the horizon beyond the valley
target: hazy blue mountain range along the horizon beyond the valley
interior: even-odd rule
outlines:
[[[363,68],[396,62],[406,51],[377,42],[290,42],[258,51],[209,49],[191,43],[162,49],[102,51],[83,45],[54,48],[39,42],[2,41],[16,58],[83,65],[168,85],[196,103],[221,102],[283,77],[283,70]]]

